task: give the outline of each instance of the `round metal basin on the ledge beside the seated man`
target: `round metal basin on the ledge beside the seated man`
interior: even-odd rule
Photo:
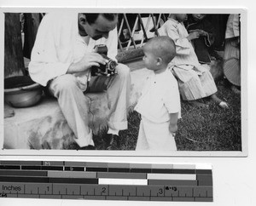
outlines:
[[[13,107],[36,105],[42,98],[43,88],[28,76],[4,79],[4,101]]]

